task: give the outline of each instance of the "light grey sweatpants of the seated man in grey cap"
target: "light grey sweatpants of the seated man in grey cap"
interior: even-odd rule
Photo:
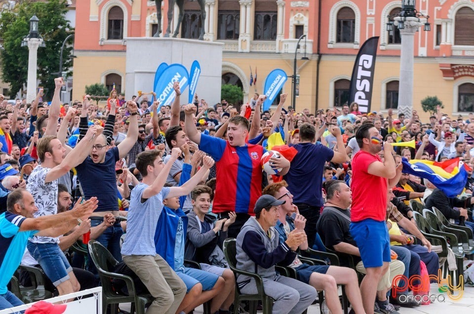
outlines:
[[[275,300],[273,314],[301,314],[315,301],[316,289],[293,278],[277,275],[275,280],[263,279],[265,294]],[[256,294],[257,286],[251,280],[240,289],[245,294]]]

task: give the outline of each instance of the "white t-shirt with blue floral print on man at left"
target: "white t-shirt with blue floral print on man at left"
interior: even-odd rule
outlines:
[[[28,178],[26,190],[33,195],[38,211],[35,218],[58,213],[58,180],[45,183],[50,168],[37,166]],[[59,237],[34,236],[34,243],[59,243]]]

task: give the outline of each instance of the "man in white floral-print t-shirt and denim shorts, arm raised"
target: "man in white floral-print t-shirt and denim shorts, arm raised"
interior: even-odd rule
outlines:
[[[84,160],[94,144],[94,137],[101,132],[102,127],[91,126],[84,139],[67,156],[66,149],[55,136],[47,135],[40,139],[37,150],[41,165],[32,171],[27,185],[38,206],[35,217],[57,213],[58,178]],[[29,239],[27,247],[59,294],[65,295],[79,291],[79,282],[58,243],[58,237],[34,236]]]

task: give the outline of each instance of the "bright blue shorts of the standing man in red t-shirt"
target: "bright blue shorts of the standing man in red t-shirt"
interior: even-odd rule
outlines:
[[[364,267],[381,267],[390,263],[390,238],[385,221],[364,219],[351,223],[349,229],[357,243]]]

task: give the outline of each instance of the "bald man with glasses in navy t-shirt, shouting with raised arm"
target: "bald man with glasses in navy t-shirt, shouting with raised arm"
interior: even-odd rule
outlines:
[[[95,138],[90,155],[76,167],[85,199],[97,196],[99,200],[97,209],[90,217],[91,228],[102,224],[104,216],[108,214],[112,213],[115,217],[118,217],[118,190],[115,176],[115,163],[125,157],[135,146],[139,135],[137,104],[133,101],[129,101],[127,103],[127,110],[130,113],[130,127],[127,137],[121,141],[117,147],[109,149],[107,138],[104,135],[98,136]],[[112,110],[111,114],[114,112],[115,111]],[[118,261],[122,260],[119,246],[120,236],[122,236],[122,234],[123,230],[117,220],[115,224],[109,226],[96,238]],[[93,263],[89,263],[88,270],[92,273],[96,273]]]

